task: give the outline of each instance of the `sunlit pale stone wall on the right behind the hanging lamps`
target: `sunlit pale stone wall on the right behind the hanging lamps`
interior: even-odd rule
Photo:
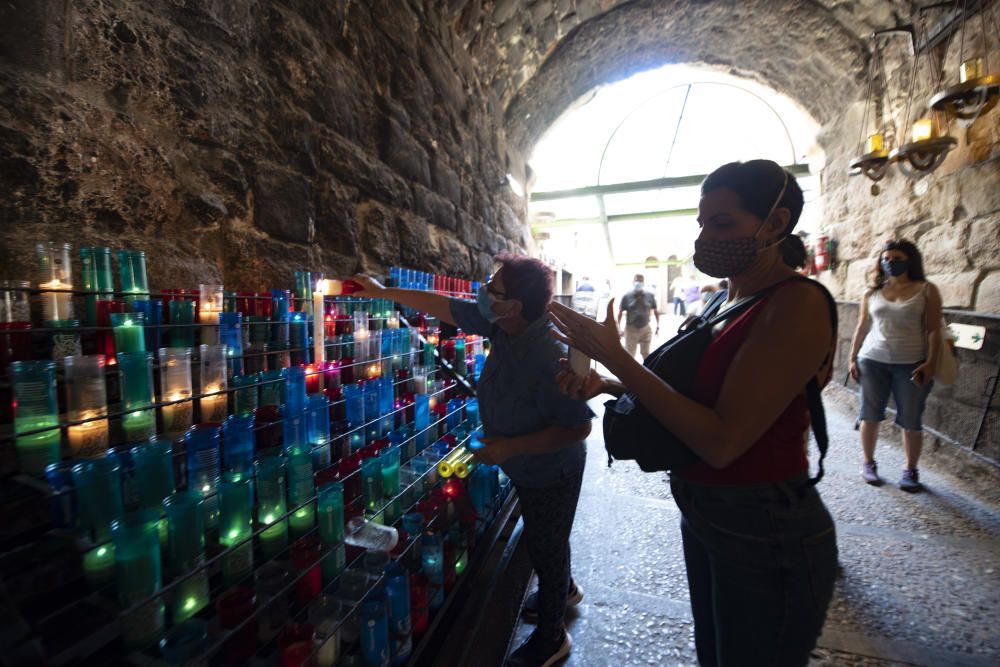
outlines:
[[[975,48],[978,35],[978,30],[970,34],[966,54]],[[992,37],[992,53],[1000,53],[1000,35]],[[886,119],[905,142],[910,136],[904,114],[912,60],[905,38],[886,43]],[[957,83],[959,49],[956,36],[921,57],[911,117],[926,116],[927,101],[940,89],[935,85],[940,68],[948,82],[944,85]],[[823,281],[838,297],[860,299],[882,243],[905,237],[920,248],[928,278],[940,288],[946,308],[1000,313],[1000,109],[968,128],[952,121],[948,128],[958,146],[945,162],[919,185],[892,167],[877,196],[871,194],[870,180],[848,175],[849,162],[859,154],[863,109],[860,99],[847,106],[820,137],[827,156],[824,222],[837,242],[838,259]]]

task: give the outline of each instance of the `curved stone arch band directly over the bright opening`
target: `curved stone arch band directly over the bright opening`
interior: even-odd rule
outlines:
[[[816,3],[636,0],[558,43],[507,106],[508,136],[526,150],[589,90],[667,63],[756,80],[825,125],[861,94],[866,60],[858,36]]]

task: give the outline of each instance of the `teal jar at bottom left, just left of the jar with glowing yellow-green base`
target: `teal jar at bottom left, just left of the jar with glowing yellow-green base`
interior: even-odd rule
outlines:
[[[160,591],[160,513],[141,510],[111,524],[115,544],[115,581],[122,609],[142,603]],[[159,597],[141,604],[119,618],[122,642],[128,649],[141,649],[163,636],[163,601]]]

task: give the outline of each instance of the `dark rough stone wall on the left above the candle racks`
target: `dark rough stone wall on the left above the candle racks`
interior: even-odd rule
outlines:
[[[39,240],[144,249],[154,289],[478,278],[528,242],[503,110],[433,0],[5,2],[0,98],[0,277]]]

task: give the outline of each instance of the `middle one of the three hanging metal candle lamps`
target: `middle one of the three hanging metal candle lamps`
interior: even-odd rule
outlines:
[[[910,111],[913,108],[913,89],[919,73],[920,54],[926,50],[926,10],[937,5],[921,8],[919,29],[913,33],[913,69],[910,71],[910,91],[906,96],[906,113],[903,127],[910,127]],[[940,73],[943,75],[943,72]],[[940,76],[939,76],[940,78]],[[923,178],[941,166],[948,153],[958,145],[958,141],[947,134],[942,123],[941,112],[930,110],[930,117],[917,118],[912,125],[909,143],[901,145],[889,153],[889,159],[899,164],[899,170],[909,178]]]

